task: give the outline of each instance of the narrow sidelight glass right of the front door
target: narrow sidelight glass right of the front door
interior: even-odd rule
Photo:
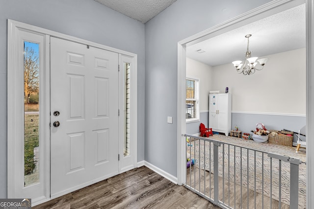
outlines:
[[[123,155],[130,155],[130,63],[124,63],[124,81],[125,81],[125,139],[123,146]]]

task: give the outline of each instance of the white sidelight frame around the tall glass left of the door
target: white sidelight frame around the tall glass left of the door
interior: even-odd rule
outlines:
[[[49,150],[49,104],[50,104],[50,89],[49,89],[49,42],[48,36],[36,31],[25,30],[24,28],[16,27],[12,22],[8,21],[8,126],[7,126],[7,197],[8,198],[25,198],[22,195],[27,195],[28,192],[36,192],[32,198],[33,202],[40,202],[46,199],[50,192],[49,177],[50,177],[50,155],[46,152]],[[38,184],[23,186],[24,182],[24,95],[23,95],[23,66],[24,66],[24,41],[39,43],[40,45],[40,113],[39,119],[39,182]],[[47,48],[48,47],[48,48]],[[45,124],[45,125],[44,125]],[[47,164],[48,163],[48,164]],[[22,173],[22,175],[18,175]],[[46,175],[47,174],[47,175]]]

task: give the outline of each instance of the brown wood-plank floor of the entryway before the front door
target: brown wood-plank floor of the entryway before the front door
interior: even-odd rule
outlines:
[[[33,209],[219,209],[184,186],[142,166]]]

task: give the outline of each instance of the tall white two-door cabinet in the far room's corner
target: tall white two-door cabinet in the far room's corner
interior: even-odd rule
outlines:
[[[212,131],[225,133],[231,131],[231,93],[209,94],[209,128]]]

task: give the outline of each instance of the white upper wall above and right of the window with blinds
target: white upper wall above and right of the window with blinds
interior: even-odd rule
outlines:
[[[186,77],[200,81],[200,111],[209,110],[209,91],[212,86],[212,70],[209,65],[186,58]]]

